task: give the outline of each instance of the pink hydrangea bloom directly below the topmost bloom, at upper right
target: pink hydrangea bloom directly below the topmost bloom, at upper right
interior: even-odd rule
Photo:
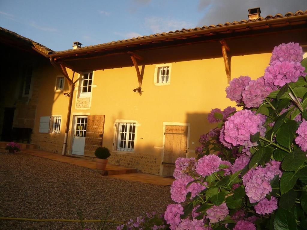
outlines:
[[[271,86],[284,86],[286,83],[297,82],[299,76],[306,76],[305,67],[299,62],[273,61],[266,67],[264,79]]]

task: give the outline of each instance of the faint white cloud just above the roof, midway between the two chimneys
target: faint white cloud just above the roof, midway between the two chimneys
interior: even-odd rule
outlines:
[[[162,33],[180,30],[182,28],[188,29],[195,27],[195,25],[189,21],[182,21],[173,18],[147,17],[145,18],[145,27],[150,28],[152,33]]]

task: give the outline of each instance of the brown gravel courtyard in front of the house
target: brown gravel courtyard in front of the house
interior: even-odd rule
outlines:
[[[0,216],[34,219],[127,221],[146,212],[163,213],[170,186],[102,176],[91,169],[0,149]],[[98,228],[88,223],[86,228]],[[108,225],[105,229],[115,229]],[[0,229],[82,229],[80,223],[0,220]]]

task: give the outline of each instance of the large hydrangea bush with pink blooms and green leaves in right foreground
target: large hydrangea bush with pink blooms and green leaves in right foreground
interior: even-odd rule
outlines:
[[[306,64],[299,44],[281,44],[264,76],[230,82],[238,111],[212,109],[197,158],[176,160],[171,230],[307,229]]]

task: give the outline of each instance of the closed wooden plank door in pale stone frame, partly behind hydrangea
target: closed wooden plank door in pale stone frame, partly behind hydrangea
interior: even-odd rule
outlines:
[[[178,157],[186,157],[188,126],[166,125],[163,154],[163,176],[173,176],[175,161]]]

